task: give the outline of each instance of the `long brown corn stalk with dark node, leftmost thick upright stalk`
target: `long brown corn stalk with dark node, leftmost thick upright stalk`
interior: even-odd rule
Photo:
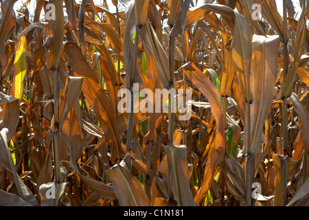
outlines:
[[[54,133],[53,133],[53,150],[54,150],[54,172],[56,195],[58,195],[58,187],[60,184],[60,136],[59,136],[59,69],[54,69]],[[56,206],[58,206],[58,199],[56,198]]]

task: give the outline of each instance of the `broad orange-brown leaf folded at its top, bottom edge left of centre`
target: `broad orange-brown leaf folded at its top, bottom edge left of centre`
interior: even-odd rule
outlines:
[[[106,173],[113,183],[113,189],[120,206],[150,206],[146,192],[130,173],[124,160],[106,170]]]

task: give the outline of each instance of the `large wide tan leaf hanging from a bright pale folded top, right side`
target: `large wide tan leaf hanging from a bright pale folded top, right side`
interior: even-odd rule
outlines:
[[[251,62],[250,88],[253,102],[251,113],[251,155],[260,151],[263,126],[275,94],[277,80],[277,51],[279,36],[253,35],[253,53]],[[245,133],[244,143],[247,143]],[[249,149],[244,144],[244,153]]]

